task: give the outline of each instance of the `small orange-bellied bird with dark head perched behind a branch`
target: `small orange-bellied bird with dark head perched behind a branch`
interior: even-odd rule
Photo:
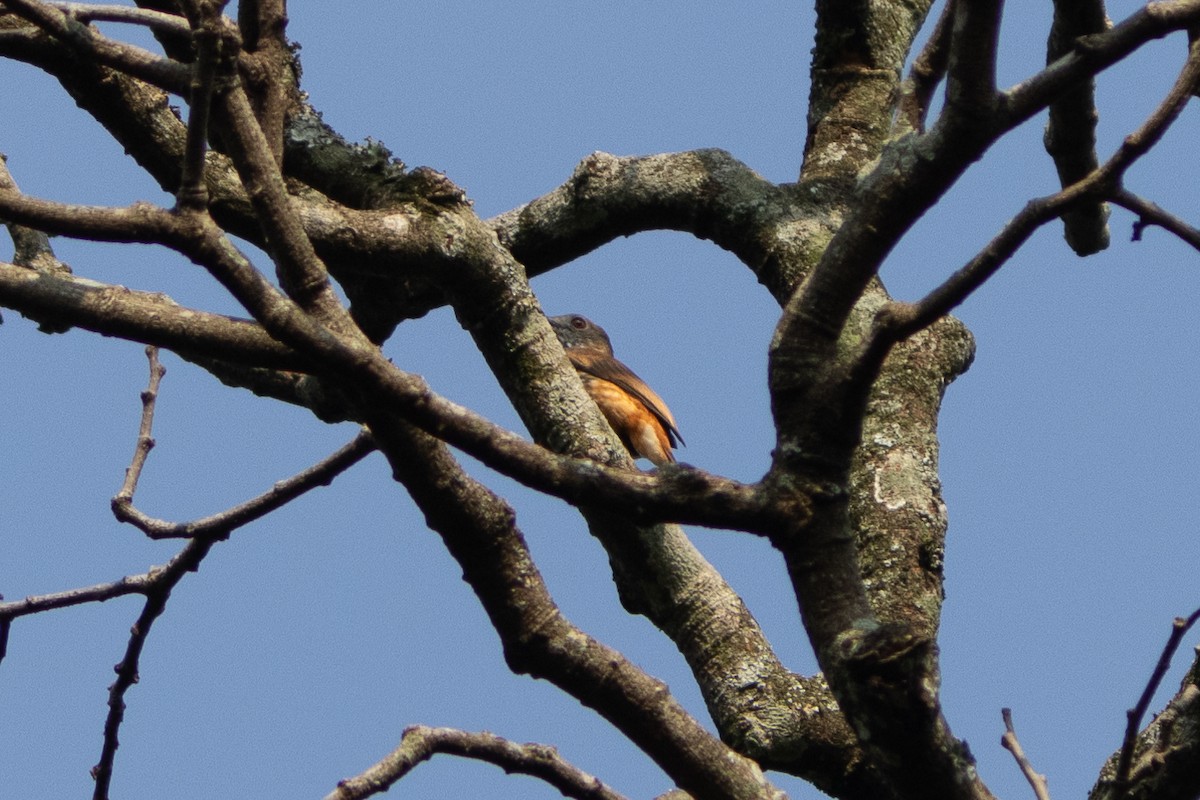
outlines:
[[[608,425],[635,457],[655,465],[674,462],[671,449],[683,444],[671,409],[646,381],[612,355],[612,342],[604,329],[587,317],[551,317],[558,341],[583,380]]]

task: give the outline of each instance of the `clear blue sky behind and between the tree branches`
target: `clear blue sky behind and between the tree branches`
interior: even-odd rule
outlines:
[[[798,172],[808,6],[332,7],[290,4],[316,107],[347,138],[372,137],[410,166],[444,170],[484,216],[550,191],[594,150],[718,146],[774,181]],[[1112,2],[1109,13],[1120,20],[1135,8]],[[1044,62],[1049,14],[1049,2],[1008,4],[1002,85]],[[1151,110],[1183,54],[1183,37],[1170,37],[1100,78],[1102,160]],[[0,82],[0,152],[26,192],[169,204],[54,82],[8,62]],[[1196,124],[1193,104],[1127,181],[1193,222]],[[1000,143],[918,223],[883,272],[895,296],[920,296],[1026,199],[1054,191],[1043,125],[1038,118]],[[1200,604],[1200,258],[1157,229],[1130,243],[1123,211],[1111,222],[1112,247],[1087,260],[1070,253],[1057,224],[1046,227],[959,311],[978,355],[947,392],[941,420],[950,512],[943,699],[980,774],[1006,798],[1030,789],[1000,747],[1002,706],[1013,708],[1054,796],[1082,796],[1120,744],[1124,710],[1170,620]],[[83,276],[236,312],[206,275],[166,251],[55,247]],[[5,241],[0,258],[10,257]],[[655,233],[613,242],[534,288],[548,313],[582,312],[607,327],[618,356],[674,410],[689,443],[684,461],[761,476],[773,443],[766,353],[778,307],[745,266],[709,242]],[[78,331],[44,336],[13,312],[4,323],[0,593],[89,585],[167,560],[176,545],[143,541],[108,512],[133,449],[142,348]],[[520,429],[449,312],[403,325],[386,349],[448,397]],[[158,447],[137,499],[156,516],[221,510],[354,435],[227,389],[174,356],[166,362]],[[666,680],[703,718],[682,658],[620,609],[606,558],[570,509],[474,471],[514,503],[568,616]],[[740,534],[697,530],[695,541],[744,594],[784,661],[810,673],[778,554]],[[90,796],[104,688],[140,604],[124,599],[14,625],[0,664],[4,796]],[[173,596],[126,700],[118,798],[320,798],[418,722],[554,744],[631,796],[670,788],[605,722],[506,670],[457,566],[378,456],[218,546]],[[820,796],[775,777],[793,798]],[[392,794],[558,796],[446,757]]]

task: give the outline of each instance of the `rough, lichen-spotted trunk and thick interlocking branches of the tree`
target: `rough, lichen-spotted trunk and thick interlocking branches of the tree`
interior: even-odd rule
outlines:
[[[817,4],[796,184],[774,185],[719,150],[593,154],[559,188],[481,219],[444,175],[408,170],[382,145],[349,144],[322,121],[302,94],[281,0],[244,1],[236,20],[204,0],[138,2],[158,12],[140,19],[162,55],[107,40],[54,6],[4,2],[0,55],[55,77],[179,203],[70,206],[26,197],[0,175],[0,217],[17,242],[16,264],[0,264],[0,305],[47,330],[170,348],[230,385],[364,425],[458,560],[509,666],[612,722],[691,796],[776,798],[761,771],[769,768],[853,800],[990,798],[938,697],[947,517],[937,415],[974,347],[946,314],[1052,218],[1062,216],[1081,253],[1106,243],[1105,200],[1129,201],[1123,170],[1182,104],[1164,101],[1145,136],[1102,167],[1090,82],[1147,41],[1194,29],[1200,2],[1157,4],[1111,29],[1098,4],[1079,16],[1057,4],[1050,66],[1008,92],[995,86],[996,0],[950,4],[918,72],[902,80],[930,5]],[[1193,47],[1189,70],[1196,60]],[[942,82],[946,109],[926,131],[928,98]],[[1181,78],[1181,92],[1194,88]],[[211,113],[208,131],[188,128],[172,96]],[[1014,221],[928,297],[892,301],[877,275],[896,242],[1000,137],[1046,108],[1064,192]],[[758,483],[690,467],[632,470],[529,287],[530,275],[664,228],[734,253],[780,306],[769,353],[778,439]],[[73,277],[46,234],[172,247],[252,319]],[[268,252],[276,279],[230,236]],[[377,345],[397,325],[443,305],[536,444],[436,396],[382,355]],[[563,618],[511,509],[467,476],[446,445],[578,509],[608,553],[625,608],[685,657],[719,736]],[[769,539],[821,674],[784,668],[682,522]],[[146,594],[155,614],[166,603],[139,582],[114,584],[109,596],[130,591]],[[78,597],[0,603],[0,622],[88,601]],[[1144,732],[1128,796],[1200,790],[1198,705],[1188,682]],[[556,775],[574,780],[570,770]],[[1106,780],[1093,796],[1118,796]]]

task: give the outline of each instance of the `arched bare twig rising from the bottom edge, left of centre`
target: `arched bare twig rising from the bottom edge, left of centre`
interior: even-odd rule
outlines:
[[[487,732],[426,726],[407,728],[396,750],[361,775],[341,781],[325,800],[362,800],[386,792],[413,768],[437,753],[476,758],[496,764],[505,772],[541,778],[576,800],[624,800],[623,795],[574,766],[547,745],[518,745]]]

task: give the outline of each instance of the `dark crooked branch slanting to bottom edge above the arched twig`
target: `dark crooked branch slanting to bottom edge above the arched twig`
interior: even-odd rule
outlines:
[[[712,738],[619,652],[554,606],[512,510],[467,476],[444,445],[377,407],[376,441],[445,541],[504,643],[509,666],[545,678],[595,709],[696,798],[778,798],[752,762]]]

